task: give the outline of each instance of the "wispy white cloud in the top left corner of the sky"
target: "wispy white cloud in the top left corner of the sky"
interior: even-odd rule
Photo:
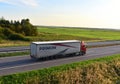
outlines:
[[[0,0],[0,3],[6,3],[11,5],[18,5],[18,6],[38,6],[38,0]]]

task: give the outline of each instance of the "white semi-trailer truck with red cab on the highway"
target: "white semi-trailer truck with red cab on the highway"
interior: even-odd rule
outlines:
[[[81,48],[83,47],[82,45],[84,45],[84,42],[78,40],[32,42],[30,46],[30,56],[38,59],[58,55],[85,54],[86,47]]]

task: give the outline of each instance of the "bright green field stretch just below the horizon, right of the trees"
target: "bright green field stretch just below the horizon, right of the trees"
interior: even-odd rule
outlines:
[[[58,35],[69,35],[79,37],[79,40],[120,40],[120,31],[103,29],[84,29],[84,28],[42,28],[38,27],[39,32],[53,33]],[[87,38],[87,39],[86,39]]]

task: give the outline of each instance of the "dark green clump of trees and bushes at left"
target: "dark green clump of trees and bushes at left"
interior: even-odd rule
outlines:
[[[6,20],[0,18],[0,37],[11,40],[21,40],[25,36],[36,36],[37,28],[30,23],[29,19],[21,21]]]

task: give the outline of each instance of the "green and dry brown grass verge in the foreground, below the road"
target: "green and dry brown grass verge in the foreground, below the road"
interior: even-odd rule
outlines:
[[[120,54],[0,77],[1,84],[119,84]]]

